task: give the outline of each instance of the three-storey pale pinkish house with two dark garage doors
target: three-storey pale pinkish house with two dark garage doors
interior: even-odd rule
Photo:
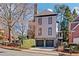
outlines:
[[[35,15],[35,41],[37,47],[55,47],[57,14],[44,10]]]

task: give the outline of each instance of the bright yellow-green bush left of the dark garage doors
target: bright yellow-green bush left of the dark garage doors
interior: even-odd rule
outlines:
[[[21,44],[21,48],[31,48],[35,46],[34,39],[23,40],[23,44]]]

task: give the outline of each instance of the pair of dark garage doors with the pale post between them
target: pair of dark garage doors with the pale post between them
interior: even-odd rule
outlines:
[[[36,47],[54,47],[54,40],[36,40]]]

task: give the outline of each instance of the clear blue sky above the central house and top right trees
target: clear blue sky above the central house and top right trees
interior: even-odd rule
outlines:
[[[55,5],[55,3],[39,3],[38,4],[38,11],[42,11],[44,9],[52,9],[53,10],[54,5]],[[79,7],[79,3],[65,3],[65,5],[68,5],[71,10],[74,7]]]

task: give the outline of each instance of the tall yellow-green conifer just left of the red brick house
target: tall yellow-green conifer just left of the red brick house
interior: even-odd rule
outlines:
[[[63,40],[68,42],[69,22],[73,21],[71,10],[67,6],[64,13],[64,20],[61,22],[61,30],[63,32]]]

